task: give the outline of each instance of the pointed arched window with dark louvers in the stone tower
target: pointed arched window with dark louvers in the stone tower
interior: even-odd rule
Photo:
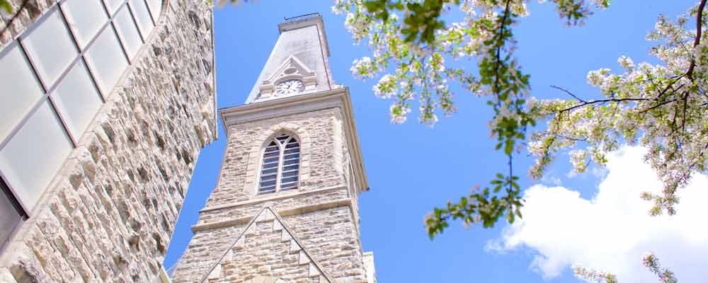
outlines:
[[[295,190],[300,168],[300,144],[289,134],[278,134],[263,150],[258,194]]]

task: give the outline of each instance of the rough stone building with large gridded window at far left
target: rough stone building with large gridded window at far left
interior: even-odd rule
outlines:
[[[12,0],[0,21],[0,282],[155,282],[216,138],[212,7]]]

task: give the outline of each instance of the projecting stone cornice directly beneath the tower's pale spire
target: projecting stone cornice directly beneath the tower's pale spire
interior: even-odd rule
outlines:
[[[358,192],[369,190],[369,183],[366,178],[364,161],[360,150],[359,134],[354,124],[354,112],[351,105],[349,88],[335,88],[331,91],[308,93],[299,96],[290,96],[222,108],[219,110],[219,115],[222,117],[224,129],[226,129],[227,136],[229,136],[229,127],[234,125],[330,108],[339,108],[342,113],[342,120],[347,132],[347,143],[349,149],[353,152],[352,157],[354,159],[355,171],[358,171],[356,178],[358,178],[358,184],[360,185],[357,187],[357,190]]]

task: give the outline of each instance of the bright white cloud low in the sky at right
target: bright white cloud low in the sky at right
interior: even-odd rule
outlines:
[[[643,191],[658,192],[644,149],[624,147],[609,156],[607,175],[592,200],[566,187],[535,185],[525,191],[523,219],[489,243],[496,251],[528,249],[531,268],[552,278],[579,264],[617,275],[620,283],[657,282],[641,265],[653,252],[678,281],[708,278],[708,176],[696,174],[679,191],[675,216],[651,217]]]

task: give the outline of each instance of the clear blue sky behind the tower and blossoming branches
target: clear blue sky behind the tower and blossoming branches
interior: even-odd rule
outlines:
[[[659,13],[676,16],[693,4],[687,0],[614,2],[607,11],[591,16],[585,26],[570,28],[558,18],[553,4],[530,4],[531,15],[520,21],[515,34],[518,58],[524,71],[531,74],[533,96],[565,98],[549,87],[557,85],[584,98],[597,97],[598,91],[586,83],[588,71],[602,67],[619,70],[620,55],[630,56],[634,62],[655,62],[647,55],[651,42],[644,36],[656,17]],[[493,229],[464,229],[455,223],[430,241],[423,228],[426,213],[459,198],[475,184],[488,183],[494,173],[504,170],[506,161],[493,151],[494,141],[486,127],[490,110],[484,100],[457,89],[458,112],[440,119],[433,129],[418,125],[416,112],[404,125],[389,124],[390,102],[375,98],[375,80],[360,81],[349,73],[353,59],[369,52],[365,45],[352,44],[343,28],[343,16],[331,13],[331,4],[278,0],[217,8],[219,108],[244,103],[278,37],[277,25],[283,17],[320,12],[329,39],[333,79],[348,86],[352,94],[371,186],[360,195],[362,244],[365,251],[375,253],[379,282],[578,282],[564,265],[556,274],[539,265],[539,254],[549,256],[539,246],[527,244],[501,252],[486,248],[508,232],[503,222]],[[215,186],[226,141],[220,122],[219,131],[219,139],[203,149],[198,159],[165,259],[167,267],[186,248],[192,236],[190,226]],[[517,160],[522,187],[562,185],[585,200],[598,195],[598,184],[607,175],[596,171],[599,173],[569,177],[567,156],[559,156],[548,178],[532,181],[526,177],[530,158]],[[558,210],[549,215],[564,213]],[[636,258],[632,263],[639,262]]]

